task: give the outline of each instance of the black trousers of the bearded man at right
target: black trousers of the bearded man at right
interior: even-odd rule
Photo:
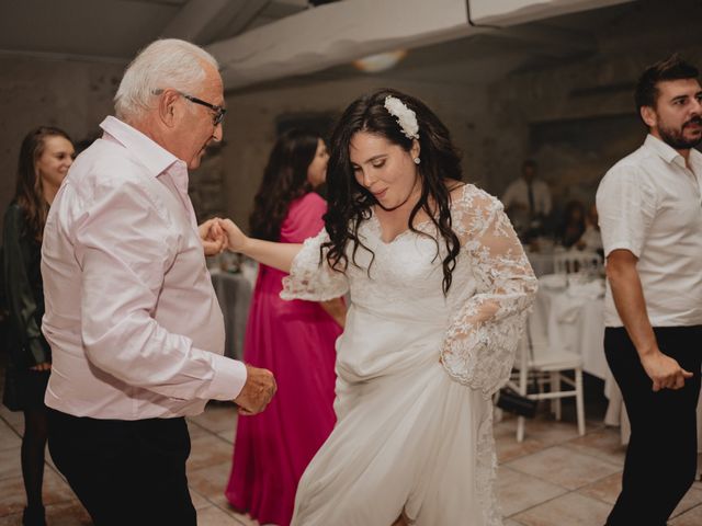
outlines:
[[[660,351],[694,377],[682,389],[654,392],[626,330],[604,331],[607,362],[632,424],[622,492],[608,526],[664,526],[694,481],[702,327],[654,328],[654,332]]]

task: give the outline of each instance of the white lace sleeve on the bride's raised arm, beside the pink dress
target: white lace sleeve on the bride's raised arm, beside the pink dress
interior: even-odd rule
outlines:
[[[329,267],[326,258],[319,260],[321,244],[329,240],[326,229],[307,238],[293,260],[290,275],[283,278],[283,299],[328,301],[349,291],[347,275]]]

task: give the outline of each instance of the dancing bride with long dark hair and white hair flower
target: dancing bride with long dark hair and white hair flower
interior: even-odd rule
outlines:
[[[490,397],[536,279],[502,205],[461,179],[437,115],[380,90],[336,126],[316,238],[273,243],[223,221],[231,250],[290,271],[283,297],[350,291],[337,425],[299,482],[294,525],[501,524]]]

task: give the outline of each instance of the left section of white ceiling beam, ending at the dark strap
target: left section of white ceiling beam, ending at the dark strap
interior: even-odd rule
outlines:
[[[217,42],[207,50],[219,60],[225,87],[235,89],[483,31],[468,24],[465,0],[347,0]]]

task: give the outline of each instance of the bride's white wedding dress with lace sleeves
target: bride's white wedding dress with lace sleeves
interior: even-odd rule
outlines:
[[[400,513],[421,526],[502,524],[490,396],[511,370],[536,279],[502,205],[473,185],[457,194],[461,253],[445,297],[431,222],[417,227],[428,236],[386,243],[371,216],[359,236],[374,261],[359,248],[346,273],[319,265],[324,230],[293,262],[283,298],[351,297],[337,425],[299,482],[293,525],[390,526]]]

